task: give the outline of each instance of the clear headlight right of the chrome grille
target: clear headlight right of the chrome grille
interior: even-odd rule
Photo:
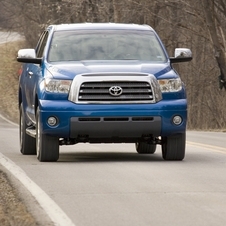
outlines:
[[[178,92],[182,89],[182,82],[179,78],[161,79],[158,82],[162,93]]]

